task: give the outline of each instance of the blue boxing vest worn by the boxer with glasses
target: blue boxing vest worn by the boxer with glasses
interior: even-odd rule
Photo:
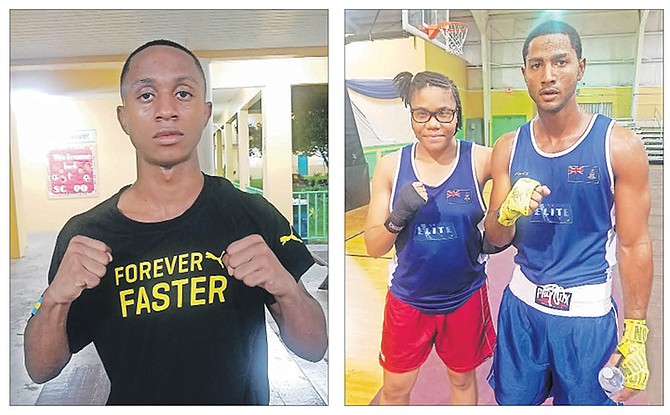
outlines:
[[[437,186],[424,183],[428,201],[398,234],[389,266],[389,290],[425,313],[448,313],[486,281],[482,254],[486,208],[475,175],[473,145],[456,140],[457,160]],[[414,166],[416,143],[403,147],[391,195],[421,181]]]

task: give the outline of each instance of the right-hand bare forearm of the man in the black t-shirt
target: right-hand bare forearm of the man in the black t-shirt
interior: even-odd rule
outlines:
[[[284,343],[303,359],[317,362],[328,347],[326,318],[318,301],[301,285],[296,291],[277,297],[273,316]]]

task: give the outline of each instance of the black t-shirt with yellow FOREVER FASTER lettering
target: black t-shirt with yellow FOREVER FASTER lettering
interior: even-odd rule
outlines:
[[[105,242],[114,260],[70,308],[70,350],[93,342],[111,380],[108,404],[268,404],[265,304],[274,298],[230,277],[231,242],[260,234],[298,280],[314,263],[290,223],[260,195],[205,175],[181,216],[141,223],[116,195],[70,219],[56,241],[53,280],[75,235]]]

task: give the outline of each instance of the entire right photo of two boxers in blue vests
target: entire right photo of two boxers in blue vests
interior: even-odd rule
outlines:
[[[663,405],[663,10],[344,13],[345,405]]]

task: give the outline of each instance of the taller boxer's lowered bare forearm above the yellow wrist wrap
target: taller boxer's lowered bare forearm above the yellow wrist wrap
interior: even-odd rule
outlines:
[[[624,316],[645,319],[653,283],[651,240],[645,237],[618,247],[619,276],[623,289]]]

